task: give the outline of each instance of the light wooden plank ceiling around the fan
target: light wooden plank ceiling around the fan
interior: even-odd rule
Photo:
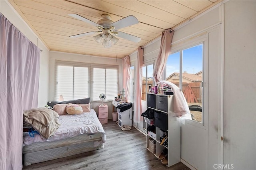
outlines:
[[[51,51],[122,58],[200,12],[218,4],[216,0],[9,0],[27,24]],[[102,14],[113,22],[135,16],[139,23],[119,31],[141,38],[135,43],[122,38],[110,48],[94,41],[93,35],[69,38],[97,31],[95,26],[68,16],[79,14],[93,22]]]

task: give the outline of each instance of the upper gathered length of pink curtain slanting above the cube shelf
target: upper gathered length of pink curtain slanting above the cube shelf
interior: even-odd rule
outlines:
[[[171,29],[169,28],[165,32],[162,32],[160,51],[156,59],[156,64],[154,65],[153,71],[153,77],[156,83],[162,80],[162,74],[171,49],[174,30],[172,30],[172,32],[170,32],[170,30]]]

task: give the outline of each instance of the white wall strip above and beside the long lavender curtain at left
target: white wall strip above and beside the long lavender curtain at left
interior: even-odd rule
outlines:
[[[14,10],[8,1],[0,0],[0,12],[10,21],[20,32],[24,34],[32,43],[42,49],[40,55],[40,75],[38,91],[38,107],[43,107],[48,101],[48,84],[49,84],[49,50],[41,40],[28,27],[26,22]]]

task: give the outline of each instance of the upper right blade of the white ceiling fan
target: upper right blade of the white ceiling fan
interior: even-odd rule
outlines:
[[[122,18],[121,20],[118,20],[118,21],[112,23],[111,26],[114,26],[115,30],[118,30],[118,29],[121,29],[124,27],[132,26],[134,24],[138,24],[138,23],[139,23],[139,21],[137,20],[137,18],[130,15],[130,16],[127,16],[125,18]]]

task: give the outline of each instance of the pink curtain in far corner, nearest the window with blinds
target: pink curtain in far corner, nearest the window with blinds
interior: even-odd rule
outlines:
[[[127,102],[130,101],[129,95],[130,95],[130,56],[126,55],[123,58],[123,88],[125,89],[126,99]]]

